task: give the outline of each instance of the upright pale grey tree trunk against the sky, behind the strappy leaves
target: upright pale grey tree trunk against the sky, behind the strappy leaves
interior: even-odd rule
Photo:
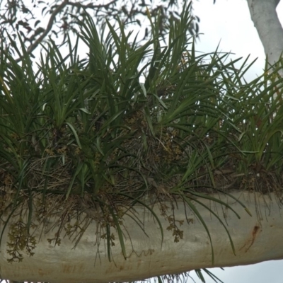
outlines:
[[[250,17],[258,30],[268,62],[274,64],[283,52],[283,29],[276,12],[279,0],[247,1]],[[241,21],[241,17],[239,20]]]

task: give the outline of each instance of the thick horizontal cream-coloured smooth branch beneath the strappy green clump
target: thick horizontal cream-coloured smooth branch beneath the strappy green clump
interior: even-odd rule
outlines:
[[[112,247],[112,262],[109,262],[104,240],[96,244],[96,223],[88,226],[81,241],[74,248],[74,242],[67,237],[62,239],[60,246],[48,243],[47,238],[54,238],[53,231],[35,231],[39,243],[35,248],[35,255],[25,255],[23,262],[8,263],[6,242],[8,229],[4,232],[1,243],[0,267],[2,279],[37,281],[37,282],[129,282],[156,275],[180,273],[204,267],[226,267],[234,265],[248,265],[264,260],[283,258],[283,219],[282,209],[275,195],[262,196],[258,193],[234,192],[233,195],[241,200],[253,216],[249,216],[240,204],[224,195],[221,200],[229,203],[238,212],[238,219],[233,212],[203,200],[223,221],[233,238],[236,255],[233,255],[231,244],[225,229],[219,221],[199,204],[199,209],[214,246],[214,265],[209,238],[204,227],[186,209],[187,217],[193,219],[190,224],[185,221],[185,210],[182,202],[175,207],[175,220],[184,220],[183,239],[175,243],[172,231],[166,228],[168,220],[161,216],[157,206],[154,211],[161,219],[164,239],[161,247],[161,231],[154,218],[143,207],[137,207],[137,215],[144,224],[145,233],[129,216],[125,216],[123,230],[127,260],[123,258],[117,233],[115,246]],[[168,204],[168,207],[171,205]],[[168,211],[167,215],[172,215]],[[177,223],[178,224],[178,223]],[[50,222],[52,226],[52,221]],[[0,226],[0,231],[3,226]],[[112,229],[114,230],[114,229]],[[114,232],[114,231],[113,231]],[[62,238],[63,235],[61,235]]]

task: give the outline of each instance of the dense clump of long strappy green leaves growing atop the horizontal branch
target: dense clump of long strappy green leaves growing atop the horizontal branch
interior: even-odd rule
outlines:
[[[238,60],[225,62],[228,54],[198,55],[185,32],[189,11],[171,18],[167,45],[149,13],[152,37],[143,45],[121,22],[98,35],[86,16],[74,46],[68,40],[69,54],[50,43],[37,71],[23,41],[19,49],[11,40],[20,64],[1,47],[2,219],[27,212],[29,231],[33,219],[44,224],[57,212],[55,244],[63,229],[83,233],[94,219],[105,229],[110,258],[113,228],[125,255],[120,226],[135,205],[160,224],[152,205],[183,200],[207,229],[194,203],[227,206],[213,192],[280,193],[282,79],[266,67],[247,83],[247,60],[236,69]],[[89,46],[87,59],[79,59],[79,39]],[[182,241],[179,227],[168,217],[174,241]]]

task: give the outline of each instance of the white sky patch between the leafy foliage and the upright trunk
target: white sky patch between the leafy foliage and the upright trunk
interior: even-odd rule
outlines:
[[[213,0],[194,0],[193,7],[195,15],[200,17],[202,34],[197,50],[213,52],[219,45],[219,51],[233,53],[234,59],[246,59],[250,55],[249,62],[258,60],[248,71],[246,79],[255,79],[256,74],[262,73],[265,53],[250,19],[246,0],[216,0],[216,4]]]

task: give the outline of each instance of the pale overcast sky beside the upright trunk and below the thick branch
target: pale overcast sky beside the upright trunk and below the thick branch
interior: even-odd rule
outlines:
[[[214,52],[220,44],[219,51],[233,52],[234,58],[246,58],[250,54],[250,62],[257,57],[258,60],[248,71],[246,79],[255,79],[257,75],[262,74],[265,53],[250,19],[246,0],[216,0],[214,5],[213,0],[194,0],[193,7],[195,15],[200,17],[200,33],[203,33],[197,42],[196,50]],[[277,13],[283,23],[283,3],[277,7]],[[229,267],[225,268],[225,271],[210,271],[224,283],[282,283],[282,270],[283,260],[272,260],[257,265]],[[190,275],[193,273],[195,272]],[[196,282],[200,282],[200,279]],[[212,279],[207,279],[207,283],[212,282]]]

